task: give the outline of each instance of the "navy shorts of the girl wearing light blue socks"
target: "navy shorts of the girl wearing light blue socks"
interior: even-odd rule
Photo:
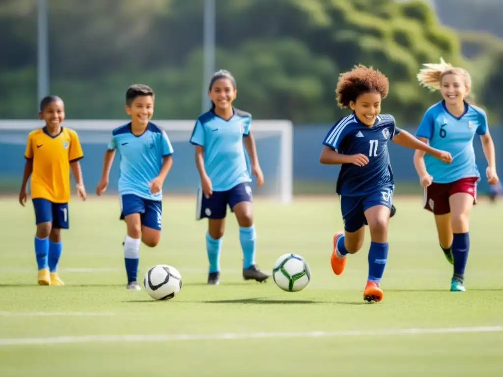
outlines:
[[[227,191],[214,191],[211,197],[206,198],[203,190],[197,192],[196,220],[224,219],[227,215],[227,205],[230,210],[241,202],[251,202],[251,187],[248,183],[239,183]]]

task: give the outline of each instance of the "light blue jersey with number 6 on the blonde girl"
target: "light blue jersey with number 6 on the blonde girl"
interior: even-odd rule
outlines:
[[[466,177],[480,177],[475,163],[473,137],[487,132],[487,117],[482,109],[466,104],[465,114],[455,117],[441,101],[428,109],[417,128],[416,136],[429,140],[430,146],[452,155],[452,163],[426,154],[428,173],[436,183],[450,183]]]

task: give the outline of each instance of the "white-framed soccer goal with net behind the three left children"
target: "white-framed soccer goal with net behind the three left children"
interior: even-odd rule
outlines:
[[[65,120],[64,126],[78,133],[85,158],[81,161],[84,181],[88,191],[100,179],[103,154],[110,141],[112,130],[127,120]],[[165,195],[192,195],[199,186],[199,174],[194,159],[194,146],[189,139],[195,121],[159,120],[154,123],[163,128],[173,144],[173,168],[164,184]],[[24,149],[30,131],[41,127],[36,120],[0,120],[0,187],[5,192],[18,190],[23,174]],[[293,131],[290,121],[252,121],[251,132],[257,142],[257,152],[265,184],[256,187],[251,183],[255,196],[276,199],[282,203],[292,200]],[[117,192],[119,155],[112,166],[107,193]]]

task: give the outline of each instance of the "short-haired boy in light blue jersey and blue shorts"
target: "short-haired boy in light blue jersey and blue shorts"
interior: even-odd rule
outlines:
[[[146,85],[131,85],[126,92],[126,112],[131,122],[112,132],[103,172],[96,187],[101,195],[108,186],[115,151],[121,154],[119,197],[121,220],[126,221],[124,262],[127,289],[139,291],[137,281],[140,240],[149,247],[159,243],[162,219],[162,184],[173,164],[173,147],[166,133],[150,122],[154,93]]]

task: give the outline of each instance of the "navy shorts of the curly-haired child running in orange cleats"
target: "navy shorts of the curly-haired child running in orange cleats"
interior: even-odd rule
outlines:
[[[356,232],[366,224],[365,211],[375,206],[385,206],[391,210],[393,187],[383,187],[381,190],[361,197],[341,196],[341,212],[344,229]]]

